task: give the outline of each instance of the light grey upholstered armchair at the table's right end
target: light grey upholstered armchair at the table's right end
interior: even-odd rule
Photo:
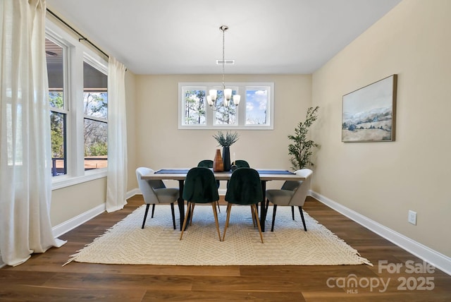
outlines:
[[[276,219],[276,210],[278,205],[291,206],[293,220],[295,220],[294,207],[297,206],[299,208],[299,213],[301,214],[302,224],[304,224],[304,231],[307,231],[304,214],[302,213],[302,207],[304,206],[305,198],[307,198],[307,193],[309,193],[311,174],[313,174],[313,171],[311,171],[311,169],[300,169],[295,173],[299,176],[303,176],[305,180],[285,181],[280,189],[266,190],[266,212],[268,212],[269,203],[274,205],[271,231],[274,231],[274,220]]]

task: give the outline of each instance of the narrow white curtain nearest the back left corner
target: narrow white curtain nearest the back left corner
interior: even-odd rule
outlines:
[[[108,174],[106,211],[121,210],[127,203],[127,119],[125,66],[112,56],[108,64]]]

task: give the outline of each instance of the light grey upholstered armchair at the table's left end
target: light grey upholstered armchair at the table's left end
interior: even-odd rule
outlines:
[[[180,191],[178,188],[166,188],[161,180],[149,180],[141,179],[142,175],[153,174],[154,170],[146,167],[139,167],[136,169],[136,178],[138,186],[142,196],[144,197],[144,203],[146,204],[146,212],[144,213],[144,220],[142,221],[141,229],[144,229],[146,224],[147,212],[149,212],[149,206],[152,205],[152,217],[154,218],[155,205],[170,204],[172,212],[172,222],[175,229],[175,215],[174,215],[174,203],[177,201]]]

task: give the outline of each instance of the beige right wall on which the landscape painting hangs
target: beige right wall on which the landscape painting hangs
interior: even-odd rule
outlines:
[[[451,1],[404,0],[313,75],[313,189],[451,256]],[[342,143],[342,95],[397,73],[396,140]],[[416,226],[408,210],[418,213]]]

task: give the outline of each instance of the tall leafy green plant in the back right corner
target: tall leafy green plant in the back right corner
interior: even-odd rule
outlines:
[[[288,138],[293,141],[293,143],[288,145],[288,154],[292,155],[290,162],[292,164],[292,169],[295,171],[314,166],[310,159],[312,155],[311,149],[319,147],[319,145],[313,140],[309,140],[307,138],[307,133],[309,132],[311,124],[317,119],[318,110],[319,106],[309,107],[304,123],[299,121],[297,124],[295,135],[288,135]]]

